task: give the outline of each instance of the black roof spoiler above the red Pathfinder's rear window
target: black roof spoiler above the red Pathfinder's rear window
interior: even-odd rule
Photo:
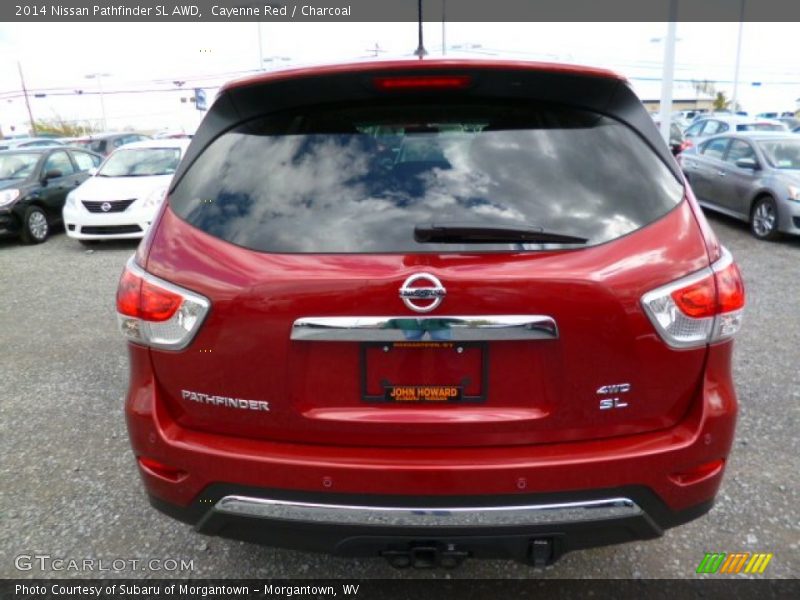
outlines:
[[[488,61],[398,61],[356,63],[269,73],[226,85],[209,109],[181,161],[174,187],[199,154],[225,131],[251,119],[323,103],[352,103],[385,98],[374,85],[386,77],[468,77],[470,85],[456,89],[405,90],[404,97],[447,93],[463,98],[534,100],[582,108],[609,116],[636,131],[664,164],[683,180],[680,168],[627,81],[611,71],[570,65]],[[427,96],[426,96],[427,94]]]

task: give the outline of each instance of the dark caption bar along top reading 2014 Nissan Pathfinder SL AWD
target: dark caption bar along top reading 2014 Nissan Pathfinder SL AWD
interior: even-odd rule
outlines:
[[[428,22],[800,21],[797,0],[423,0]],[[10,22],[409,22],[416,0],[4,0]],[[787,44],[789,44],[787,40]]]

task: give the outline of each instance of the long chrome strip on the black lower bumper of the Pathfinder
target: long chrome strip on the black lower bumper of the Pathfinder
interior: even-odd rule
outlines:
[[[644,514],[629,498],[607,498],[558,504],[474,507],[347,506],[292,502],[247,496],[225,496],[215,512],[263,519],[346,525],[397,527],[496,527],[578,523]]]

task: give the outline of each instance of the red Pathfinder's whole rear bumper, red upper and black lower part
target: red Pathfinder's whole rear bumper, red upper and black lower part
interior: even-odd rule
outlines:
[[[158,400],[148,351],[130,352],[134,453],[182,472],[140,467],[157,508],[203,533],[344,554],[428,540],[520,558],[540,537],[563,551],[657,537],[711,507],[737,412],[725,343],[667,430],[509,447],[290,444],[181,427]]]

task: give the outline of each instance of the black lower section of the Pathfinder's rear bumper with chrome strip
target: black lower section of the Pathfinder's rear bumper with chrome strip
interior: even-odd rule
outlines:
[[[433,550],[441,566],[453,556],[548,564],[573,550],[657,538],[712,506],[671,511],[642,487],[412,501],[217,484],[187,507],[150,500],[206,535],[341,556],[383,555],[398,566],[415,564],[409,557],[421,549]],[[540,543],[544,550],[534,556]]]

